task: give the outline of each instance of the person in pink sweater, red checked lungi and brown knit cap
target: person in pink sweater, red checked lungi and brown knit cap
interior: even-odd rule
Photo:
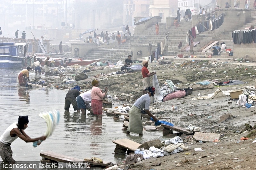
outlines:
[[[92,111],[93,114],[97,115],[97,118],[102,118],[102,104],[103,98],[107,95],[108,88],[105,87],[104,93],[102,93],[101,89],[99,88],[99,81],[93,80],[92,81],[92,91],[91,91],[91,98],[92,98]]]

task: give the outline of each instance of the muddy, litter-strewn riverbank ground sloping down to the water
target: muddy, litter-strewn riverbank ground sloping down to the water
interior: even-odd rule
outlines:
[[[172,61],[172,64],[158,65],[149,63],[149,72],[156,71],[159,85],[165,80],[171,80],[178,88],[191,87],[193,83],[218,79],[219,81],[241,80],[245,84],[232,86],[215,86],[214,89],[193,91],[192,95],[184,98],[175,98],[162,103],[151,104],[151,110],[159,120],[172,122],[176,126],[186,128],[189,124],[199,126],[204,132],[217,133],[221,135],[220,141],[198,143],[193,139],[193,135],[182,135],[182,139],[189,146],[189,150],[178,154],[165,156],[162,158],[148,159],[136,164],[120,165],[124,169],[255,169],[255,144],[252,143],[255,136],[249,140],[240,141],[248,133],[245,131],[245,123],[252,127],[256,121],[256,108],[246,109],[237,106],[235,100],[230,97],[219,97],[214,99],[192,100],[193,97],[207,96],[214,93],[216,89],[236,90],[244,89],[244,86],[255,86],[256,75],[253,62],[238,62],[233,59],[218,58],[193,58],[187,60]],[[166,60],[164,60],[166,61]],[[170,60],[167,60],[170,61]],[[141,64],[141,63],[140,63]],[[85,68],[85,67],[84,67]],[[83,69],[84,69],[83,68]],[[74,75],[83,71],[67,73],[66,77],[74,78]],[[81,86],[83,90],[91,89],[91,81],[100,81],[100,88],[108,87],[108,95],[119,98],[121,104],[132,104],[142,94],[141,72],[106,75],[116,72],[120,68],[104,68],[100,71],[86,73],[88,79],[76,81],[76,84],[61,84],[64,77],[54,79],[48,78],[47,81],[53,88],[68,89],[75,85]],[[212,73],[215,71],[216,73]],[[224,72],[225,71],[225,72]],[[152,79],[151,79],[152,81]],[[129,97],[120,96],[122,93],[130,94]],[[229,102],[231,101],[231,102]],[[228,103],[229,102],[229,103]],[[177,107],[172,111],[171,107]],[[155,109],[163,111],[154,112]],[[234,117],[218,123],[220,116],[231,113]],[[120,127],[121,128],[121,127]],[[252,129],[247,129],[248,132]],[[195,151],[194,148],[201,148],[204,151]]]

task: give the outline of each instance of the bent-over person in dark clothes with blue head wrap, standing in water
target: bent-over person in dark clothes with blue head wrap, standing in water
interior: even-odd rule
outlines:
[[[80,113],[79,108],[77,107],[76,97],[80,95],[80,87],[76,86],[72,89],[70,89],[65,97],[65,111],[69,112],[70,104],[72,104],[74,111],[77,111],[77,113]]]

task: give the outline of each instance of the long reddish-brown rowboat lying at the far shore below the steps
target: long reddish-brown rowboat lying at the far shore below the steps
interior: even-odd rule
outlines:
[[[54,60],[54,58],[50,58],[49,61],[51,62]],[[94,60],[82,60],[82,59],[72,59],[72,58],[67,58],[66,64],[67,66],[73,66],[75,64],[78,64],[79,66],[88,66],[91,63],[98,62],[100,61],[101,58],[99,59],[94,59]],[[44,60],[40,63],[41,66],[44,66]],[[60,66],[60,60],[55,59],[55,67]]]

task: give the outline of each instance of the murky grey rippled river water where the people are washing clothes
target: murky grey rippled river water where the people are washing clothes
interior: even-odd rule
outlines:
[[[75,158],[97,157],[118,163],[125,156],[114,154],[116,144],[112,143],[113,140],[127,138],[138,143],[164,140],[161,131],[144,131],[142,137],[132,133],[127,136],[122,131],[123,116],[114,120],[113,116],[105,115],[100,121],[94,116],[75,112],[72,106],[70,112],[66,113],[64,98],[68,90],[19,87],[16,82],[19,72],[15,69],[0,69],[0,135],[13,122],[17,122],[20,115],[28,115],[29,124],[25,132],[31,138],[44,135],[46,130],[44,119],[38,116],[40,112],[59,110],[60,122],[52,136],[36,148],[32,143],[16,139],[11,145],[16,161],[39,161],[40,152],[52,151]],[[30,80],[33,80],[33,76],[34,73],[30,73]]]

